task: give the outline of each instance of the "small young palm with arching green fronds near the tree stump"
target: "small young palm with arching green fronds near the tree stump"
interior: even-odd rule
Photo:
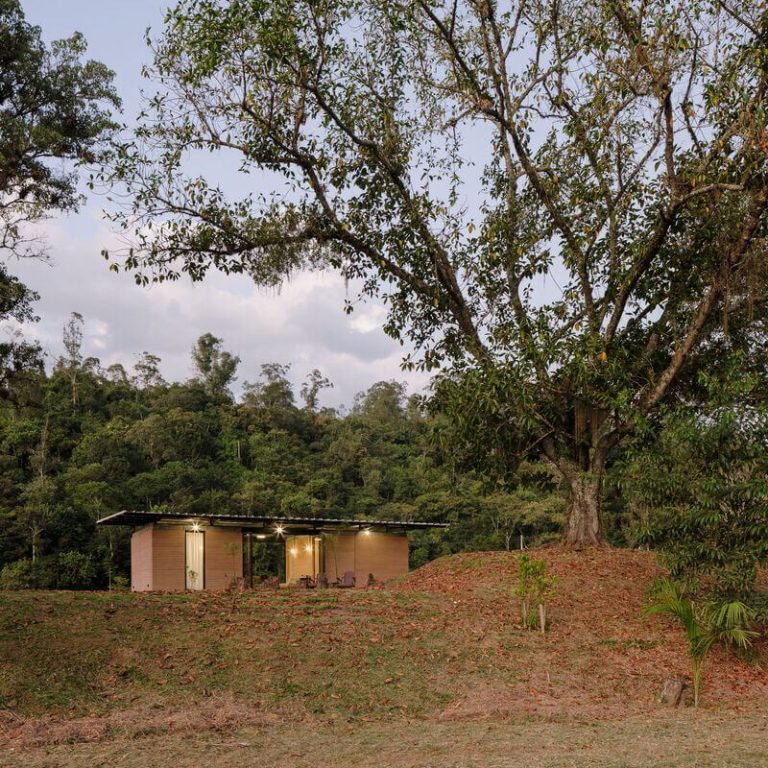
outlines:
[[[648,615],[666,614],[678,621],[688,639],[693,679],[693,705],[699,706],[704,661],[716,643],[747,649],[757,636],[750,629],[753,612],[738,600],[696,604],[671,579],[656,584],[646,608]]]

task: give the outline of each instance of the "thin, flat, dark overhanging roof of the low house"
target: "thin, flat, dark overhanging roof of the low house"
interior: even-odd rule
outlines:
[[[295,533],[322,530],[377,530],[418,531],[429,528],[447,528],[448,523],[423,523],[406,520],[355,520],[337,517],[275,517],[273,515],[189,515],[181,512],[142,512],[123,510],[102,517],[96,525],[148,525],[149,523],[176,523],[179,525],[220,525],[247,528],[252,531]],[[282,528],[283,531],[277,531]]]

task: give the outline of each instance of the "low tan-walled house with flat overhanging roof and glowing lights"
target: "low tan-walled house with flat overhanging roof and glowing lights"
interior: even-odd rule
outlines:
[[[444,523],[276,518],[245,515],[189,517],[163,512],[118,512],[98,525],[127,525],[131,536],[131,589],[135,592],[221,590],[252,586],[254,545],[271,542],[284,557],[285,584],[330,584],[353,574],[386,582],[408,572],[408,531]]]

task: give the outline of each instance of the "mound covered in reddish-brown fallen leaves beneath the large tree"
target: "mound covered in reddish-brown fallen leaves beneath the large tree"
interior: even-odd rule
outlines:
[[[485,635],[520,627],[514,596],[519,553],[476,552],[444,557],[414,571],[404,590],[445,595],[464,606],[466,620],[481,615]],[[524,664],[518,680],[469,687],[442,713],[443,719],[535,714],[624,717],[658,707],[665,677],[690,673],[686,641],[664,617],[647,617],[648,590],[663,575],[649,552],[619,549],[574,551],[548,547],[529,553],[557,577],[548,603],[545,637],[519,631],[516,655]],[[707,662],[710,702],[735,706],[764,699],[768,648],[754,649],[751,663],[724,649]]]

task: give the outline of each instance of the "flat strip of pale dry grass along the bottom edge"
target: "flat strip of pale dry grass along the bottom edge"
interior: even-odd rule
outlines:
[[[0,768],[761,768],[766,712],[690,711],[623,721],[281,720],[0,751]]]

